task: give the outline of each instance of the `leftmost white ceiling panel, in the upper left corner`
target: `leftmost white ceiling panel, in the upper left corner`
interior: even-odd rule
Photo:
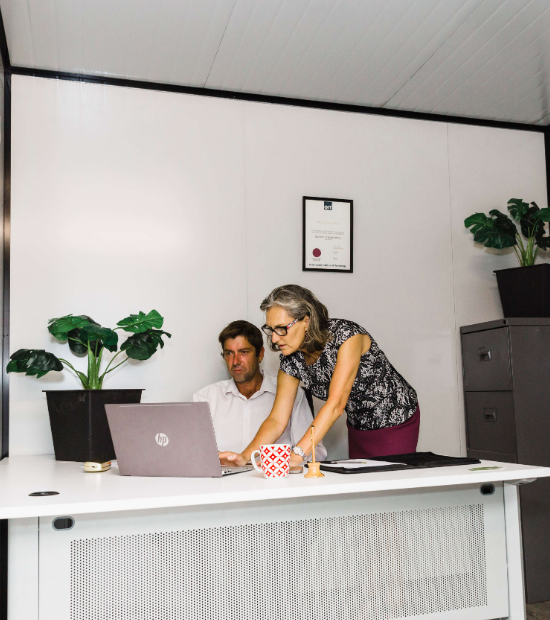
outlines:
[[[235,0],[2,0],[12,65],[204,86]]]

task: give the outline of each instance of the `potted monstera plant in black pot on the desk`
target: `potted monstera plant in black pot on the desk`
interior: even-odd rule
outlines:
[[[156,310],[131,314],[114,329],[102,327],[84,314],[51,319],[48,331],[56,340],[66,342],[71,353],[87,360],[86,372],[43,349],[20,349],[10,357],[7,372],[23,372],[39,378],[66,368],[82,383],[82,390],[44,390],[58,461],[103,463],[116,458],[104,405],[139,403],[143,390],[106,390],[103,382],[129,360],[147,360],[159,347],[164,347],[162,337],[171,335],[162,331],[163,323]],[[120,347],[119,332],[129,334]],[[114,355],[102,370],[105,350]]]

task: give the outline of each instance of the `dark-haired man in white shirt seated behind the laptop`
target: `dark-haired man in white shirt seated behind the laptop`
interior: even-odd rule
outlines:
[[[194,402],[210,405],[218,450],[241,452],[254,439],[275,401],[277,381],[260,370],[265,353],[262,332],[248,321],[233,321],[219,335],[222,357],[231,379],[207,385],[193,394]],[[294,446],[313,420],[305,393],[298,390],[288,426],[276,443]],[[322,443],[318,461],[326,459]]]

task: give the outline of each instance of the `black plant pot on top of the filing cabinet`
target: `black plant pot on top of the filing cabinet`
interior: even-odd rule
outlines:
[[[504,318],[550,317],[550,264],[495,273]]]

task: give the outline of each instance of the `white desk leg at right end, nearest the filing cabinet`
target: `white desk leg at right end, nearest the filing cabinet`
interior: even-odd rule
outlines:
[[[504,519],[506,524],[506,556],[508,560],[509,618],[510,620],[525,620],[521,514],[519,488],[515,484],[504,484]]]

